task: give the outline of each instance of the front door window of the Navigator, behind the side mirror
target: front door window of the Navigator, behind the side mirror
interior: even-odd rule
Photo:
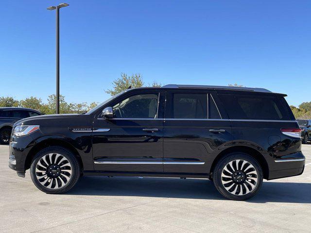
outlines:
[[[113,106],[115,118],[156,118],[158,93],[131,96]]]

